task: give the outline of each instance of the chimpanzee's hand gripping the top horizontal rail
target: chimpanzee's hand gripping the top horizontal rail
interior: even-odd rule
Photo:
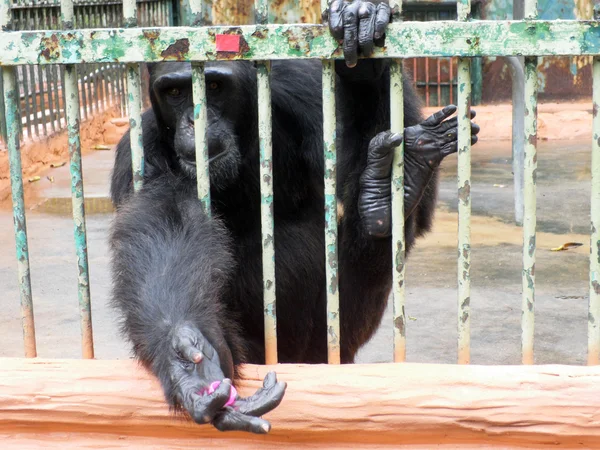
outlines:
[[[344,58],[348,67],[356,66],[358,50],[371,56],[373,47],[383,46],[385,29],[390,23],[391,10],[387,0],[334,0],[329,5],[329,30],[343,41]]]

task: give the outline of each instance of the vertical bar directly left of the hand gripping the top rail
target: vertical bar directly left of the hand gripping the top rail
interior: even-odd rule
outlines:
[[[323,62],[323,150],[325,154],[325,280],[327,283],[327,361],[340,363],[340,298],[338,290],[336,199],[335,68]]]

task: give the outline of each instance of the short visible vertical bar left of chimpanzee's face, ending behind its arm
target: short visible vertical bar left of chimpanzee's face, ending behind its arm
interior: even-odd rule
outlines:
[[[123,1],[125,27],[137,26],[135,0]],[[137,191],[144,180],[144,145],[142,140],[142,83],[139,64],[127,64],[127,96],[131,139],[133,188]]]

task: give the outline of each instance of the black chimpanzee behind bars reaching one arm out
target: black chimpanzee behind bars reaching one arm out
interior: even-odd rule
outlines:
[[[386,2],[336,0],[329,9],[345,57],[336,61],[344,363],[375,332],[391,289],[395,147],[404,139],[407,250],[430,228],[437,168],[457,150],[457,120],[448,119],[456,108],[423,121],[408,80],[407,128],[386,131],[388,63],[357,54],[370,56],[382,44],[389,20]],[[266,433],[270,424],[260,416],[279,404],[285,383],[270,373],[263,388],[241,398],[231,382],[241,363],[260,364],[265,355],[256,69],[247,61],[206,64],[210,217],[197,199],[191,67],[168,62],[149,70],[144,185],[132,193],[128,134],[112,175],[113,302],[135,355],[173,407],[219,430]],[[321,63],[273,61],[271,88],[279,361],[325,363]],[[475,143],[479,127],[471,130]]]

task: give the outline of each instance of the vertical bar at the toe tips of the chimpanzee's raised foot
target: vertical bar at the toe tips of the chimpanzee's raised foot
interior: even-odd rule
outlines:
[[[458,363],[471,361],[471,61],[458,76]]]

